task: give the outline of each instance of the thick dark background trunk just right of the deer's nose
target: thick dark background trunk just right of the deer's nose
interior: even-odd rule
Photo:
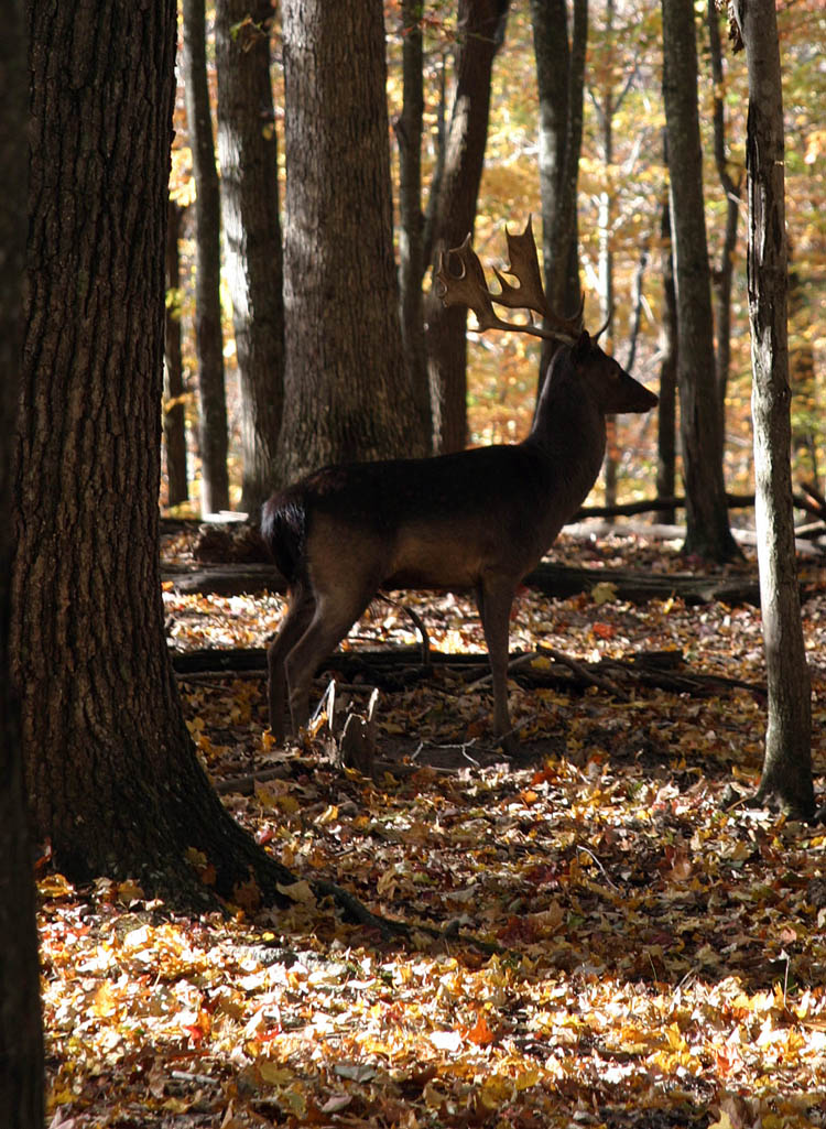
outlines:
[[[697,44],[692,0],[662,0],[662,49],[671,230],[677,266],[677,379],[686,493],[684,549],[686,553],[708,560],[727,561],[741,554],[729,528],[722,473],[722,420],[714,377],[714,326],[703,212]]]

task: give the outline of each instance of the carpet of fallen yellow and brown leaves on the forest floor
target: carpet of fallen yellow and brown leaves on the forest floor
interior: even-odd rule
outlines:
[[[674,548],[563,537],[555,557],[684,569]],[[821,794],[826,595],[807,570]],[[274,596],[165,598],[184,649],[263,646],[282,611]],[[217,784],[276,770],[225,803],[307,881],[289,911],[193,920],[134,883],[45,874],[53,1129],[826,1127],[826,832],[750,803],[758,615],[599,598],[521,594],[511,650],[679,649],[688,668],[748,686],[621,702],[609,688],[515,683],[530,759],[513,769],[485,744],[489,688],[431,680],[379,712],[380,750],[422,767],[372,780],[336,769],[320,736],[276,747],[261,675],[182,680]],[[464,601],[415,606],[433,646],[483,649]],[[388,638],[415,641],[377,603],[348,646]],[[317,877],[412,924],[413,942],[316,903]]]

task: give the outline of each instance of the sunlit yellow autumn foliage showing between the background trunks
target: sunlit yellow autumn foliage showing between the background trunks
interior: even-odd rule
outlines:
[[[608,10],[610,9],[610,10]],[[799,0],[779,6],[787,120],[787,219],[791,250],[789,344],[792,358],[792,421],[796,439],[796,482],[820,482],[824,465],[824,425],[820,382],[826,359],[826,231],[824,194],[826,131],[821,99],[826,73],[821,63],[824,16],[819,5]],[[705,8],[697,6],[701,128],[703,133],[705,218],[712,271],[721,265],[726,195],[714,160],[712,133],[714,82],[708,49]],[[664,163],[665,115],[661,96],[661,17],[659,6],[629,2],[589,9],[588,63],[579,180],[579,233],[587,325],[601,324],[600,252],[613,260],[614,317],[609,351],[621,362],[631,356],[633,373],[657,387],[661,361],[664,295],[661,275],[661,209],[667,196]],[[450,59],[456,11],[450,3],[428,5],[425,33],[425,134],[422,154],[424,192],[437,156],[439,115],[449,110]],[[386,5],[388,107],[393,123],[402,108],[402,15],[398,3]],[[275,129],[283,128],[283,84],[279,67],[278,30],[273,38]],[[537,93],[529,5],[510,6],[504,42],[493,64],[491,111],[474,246],[483,263],[504,262],[503,228],[521,230],[530,215],[537,222],[539,183],[537,161]],[[723,52],[727,159],[735,180],[745,175],[747,79],[745,55]],[[210,64],[214,96],[216,73]],[[443,99],[448,99],[448,104]],[[605,110],[612,107],[612,155],[605,157]],[[194,181],[187,145],[183,87],[175,114],[176,140],[170,191],[187,207],[184,218],[182,285],[178,296],[183,326],[183,360],[187,382],[186,414],[194,499],[176,509],[197,510],[196,371],[194,352],[194,270],[192,208]],[[283,175],[283,139],[279,138]],[[392,138],[394,191],[398,189],[398,152]],[[283,186],[282,186],[283,191]],[[726,482],[730,493],[754,490],[750,421],[750,353],[746,298],[745,201],[733,254],[731,306],[731,368],[726,410]],[[430,288],[430,279],[425,280]],[[222,291],[225,366],[230,434],[230,483],[234,505],[240,499],[239,402],[231,326],[231,305]],[[638,314],[639,312],[639,314]],[[472,326],[473,320],[468,321]],[[538,348],[519,335],[468,333],[468,441],[517,441],[530,426],[536,395]],[[656,467],[653,418],[618,420],[620,500],[645,495]],[[679,465],[679,464],[678,464]],[[649,491],[649,496],[650,496]],[[162,497],[161,497],[162,500]],[[595,490],[594,504],[604,499]],[[738,522],[748,523],[748,513]]]

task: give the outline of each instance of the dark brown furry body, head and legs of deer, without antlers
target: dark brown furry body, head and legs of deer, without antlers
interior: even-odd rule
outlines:
[[[306,724],[317,666],[379,589],[448,588],[476,597],[495,732],[515,751],[507,692],[513,594],[594,485],[606,414],[656,403],[582,332],[556,352],[524,443],[326,466],[273,495],[262,536],[289,585],[269,651],[273,733],[283,734],[285,691],[293,730]]]

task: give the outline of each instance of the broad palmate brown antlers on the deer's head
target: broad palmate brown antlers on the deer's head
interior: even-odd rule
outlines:
[[[495,270],[493,273],[501,287],[501,294],[491,294],[485,283],[485,274],[478,255],[471,247],[469,234],[459,247],[442,252],[439,271],[436,275],[438,294],[446,306],[467,306],[476,315],[480,330],[512,330],[517,333],[529,333],[547,341],[561,341],[573,344],[582,327],[582,306],[573,317],[564,318],[554,314],[548,306],[539,273],[539,260],[536,253],[534,230],[530,219],[521,235],[511,235],[506,228],[510,266],[506,274],[512,275],[519,283],[512,286]],[[448,270],[448,259],[456,255],[462,266],[460,274]],[[530,309],[541,314],[548,327],[533,323],[506,322],[493,309],[493,303],[508,309]]]

